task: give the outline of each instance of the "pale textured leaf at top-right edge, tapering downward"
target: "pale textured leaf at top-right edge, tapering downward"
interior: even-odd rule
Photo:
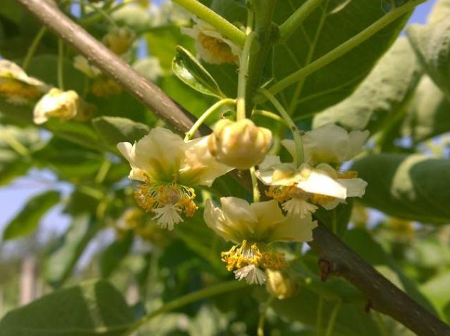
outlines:
[[[424,70],[450,99],[450,16],[426,26],[409,26],[407,36]]]

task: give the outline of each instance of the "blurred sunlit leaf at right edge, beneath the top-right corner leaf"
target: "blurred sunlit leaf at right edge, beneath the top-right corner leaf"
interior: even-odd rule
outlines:
[[[417,86],[409,112],[402,124],[402,135],[414,143],[450,131],[450,102],[439,87],[425,75]]]

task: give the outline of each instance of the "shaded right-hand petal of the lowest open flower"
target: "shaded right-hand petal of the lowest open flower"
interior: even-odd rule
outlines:
[[[279,222],[269,237],[270,242],[309,242],[313,239],[313,229],[317,222],[308,215],[301,219],[299,216],[289,216]]]

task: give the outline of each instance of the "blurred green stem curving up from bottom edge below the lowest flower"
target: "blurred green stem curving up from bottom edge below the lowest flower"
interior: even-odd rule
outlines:
[[[194,293],[186,294],[186,296],[181,296],[181,298],[177,298],[171,302],[164,304],[161,308],[154,310],[153,312],[145,315],[141,320],[135,323],[132,327],[124,333],[123,336],[132,335],[136,330],[145,325],[152,318],[161,315],[163,313],[167,313],[176,308],[183,307],[183,305],[187,305],[189,303],[196,302],[198,300],[202,300],[204,298],[210,298],[211,296],[217,296],[219,294],[227,293],[230,291],[237,291],[239,289],[247,287],[247,283],[240,281],[229,281],[225,283],[220,283],[218,285],[212,286],[210,288],[205,288],[200,291],[196,291]]]

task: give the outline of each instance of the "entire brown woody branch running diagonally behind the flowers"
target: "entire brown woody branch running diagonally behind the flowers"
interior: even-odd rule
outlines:
[[[73,23],[50,1],[16,0],[48,26],[56,35],[85,55],[90,62],[117,80],[142,104],[183,134],[192,125],[193,116],[178,107],[159,87],[139,75],[129,65]],[[203,129],[203,134],[205,129]],[[245,180],[240,178],[242,183]],[[450,336],[449,326],[434,317],[421,305],[394,286],[373,266],[345,246],[338,237],[319,225],[314,229],[311,248],[321,258],[323,279],[330,273],[339,273],[368,297],[370,308],[390,315],[419,336]]]

